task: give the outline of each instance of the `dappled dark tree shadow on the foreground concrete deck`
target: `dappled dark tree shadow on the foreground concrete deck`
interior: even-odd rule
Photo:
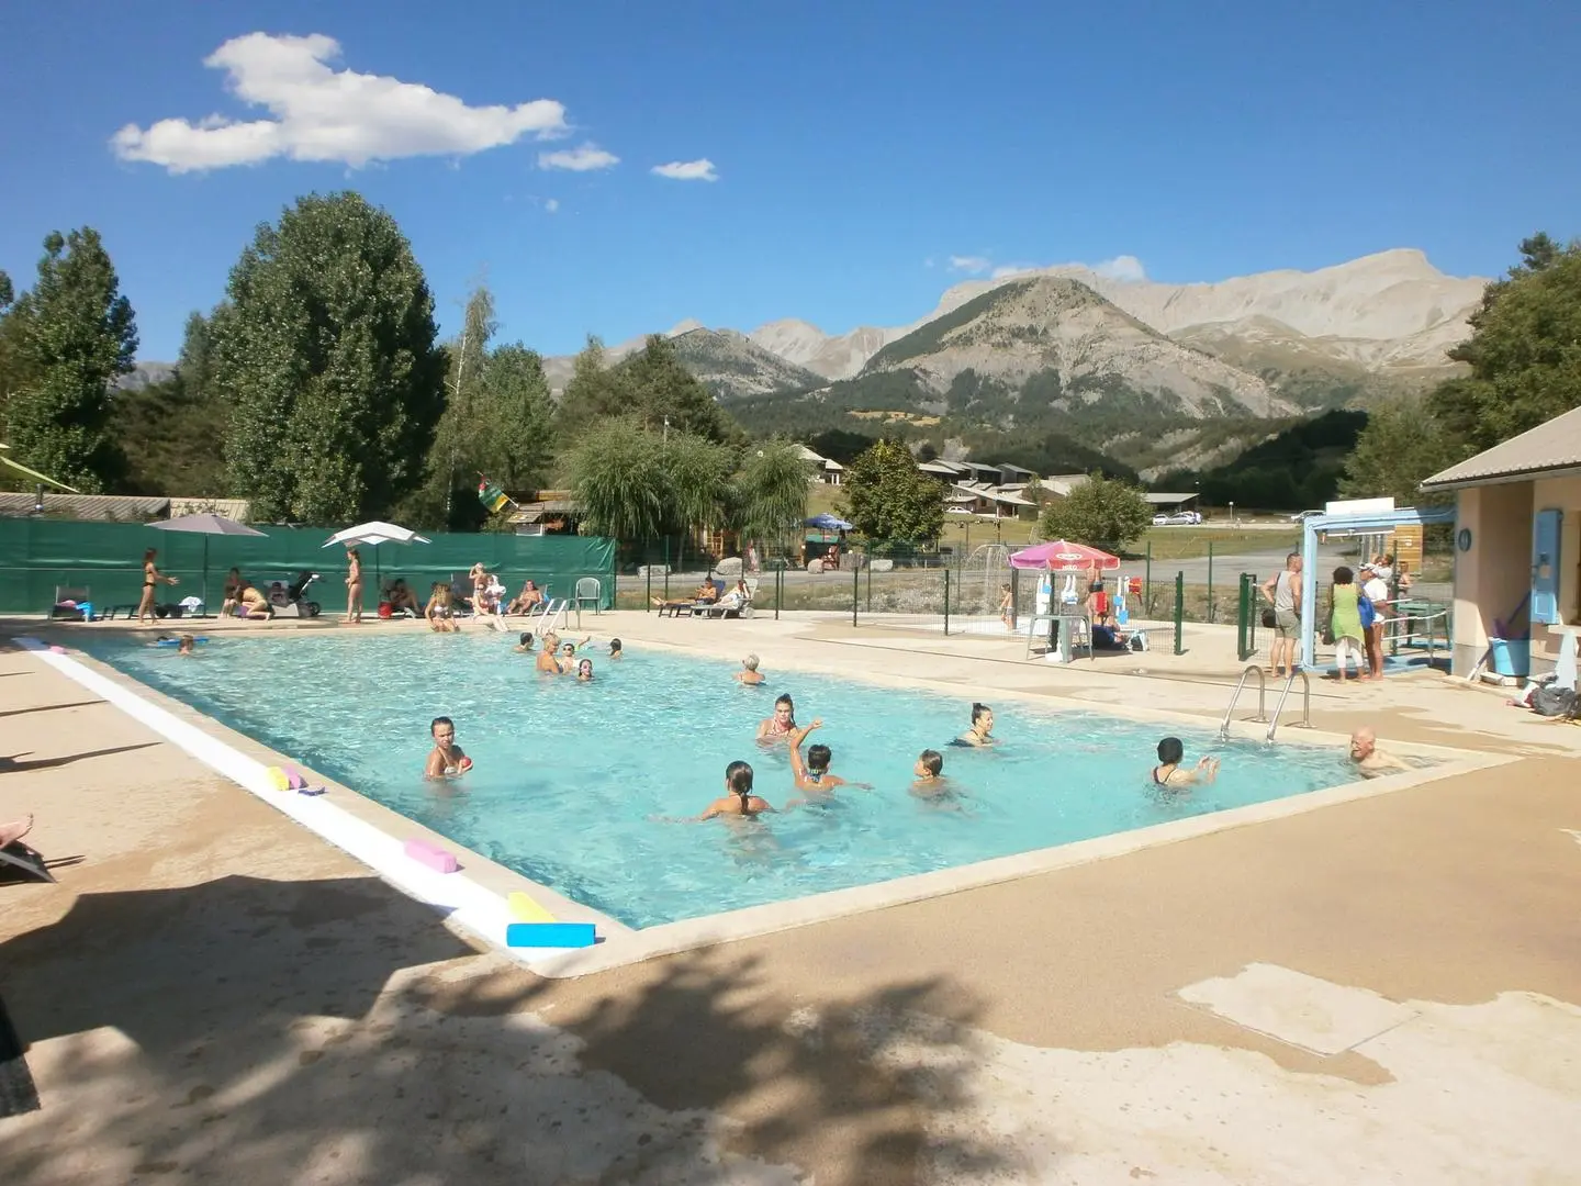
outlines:
[[[5,946],[0,991],[44,1105],[5,1121],[8,1186],[999,1167],[930,1137],[977,1017],[952,984],[819,993],[729,947],[541,980],[375,878],[89,893]]]

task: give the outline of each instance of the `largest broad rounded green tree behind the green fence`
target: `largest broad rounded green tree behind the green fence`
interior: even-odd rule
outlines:
[[[444,408],[433,297],[395,220],[310,195],[259,226],[215,323],[231,487],[259,519],[378,517],[424,478]]]

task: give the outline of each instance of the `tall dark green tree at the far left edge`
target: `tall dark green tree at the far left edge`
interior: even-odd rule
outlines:
[[[51,232],[38,280],[6,323],[8,370],[21,380],[6,400],[9,444],[81,490],[112,485],[125,455],[111,433],[111,384],[133,368],[138,326],[98,231]]]

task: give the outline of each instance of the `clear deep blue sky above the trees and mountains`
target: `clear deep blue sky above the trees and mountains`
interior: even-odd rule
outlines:
[[[304,87],[288,35],[372,77]],[[283,128],[198,127],[275,119],[204,65],[221,46]],[[16,0],[0,267],[27,286],[49,229],[100,228],[144,359],[175,356],[259,221],[338,188],[400,221],[446,332],[487,278],[503,337],[549,354],[683,318],[900,324],[964,278],[952,258],[1189,281],[1420,247],[1494,275],[1534,229],[1581,234],[1576,60],[1581,6],[1537,0]],[[370,100],[376,77],[436,95]],[[348,163],[370,150],[391,158]],[[618,164],[545,168],[566,152]],[[651,172],[699,161],[716,180]]]

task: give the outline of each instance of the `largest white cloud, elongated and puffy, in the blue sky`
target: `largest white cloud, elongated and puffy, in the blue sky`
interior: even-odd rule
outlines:
[[[274,157],[360,168],[400,157],[470,155],[522,136],[549,139],[566,131],[566,109],[555,100],[470,108],[419,82],[332,70],[329,63],[338,57],[340,44],[323,33],[232,38],[204,65],[223,70],[226,87],[272,119],[128,123],[111,138],[111,147],[122,160],[163,164],[171,172],[258,164]]]

